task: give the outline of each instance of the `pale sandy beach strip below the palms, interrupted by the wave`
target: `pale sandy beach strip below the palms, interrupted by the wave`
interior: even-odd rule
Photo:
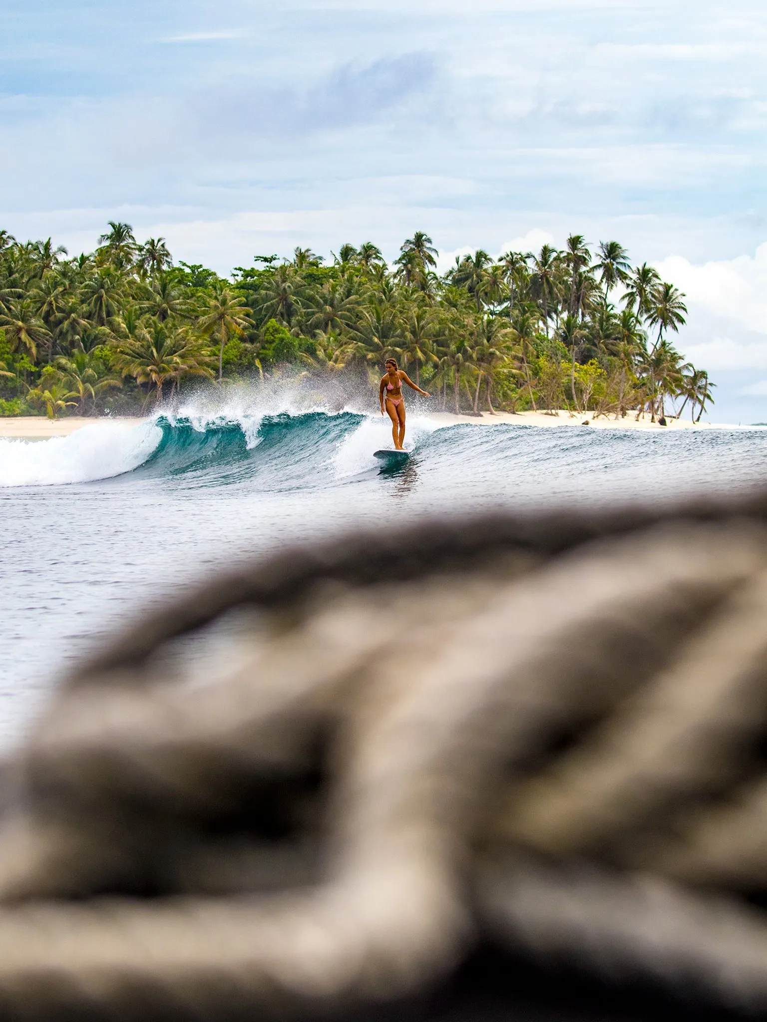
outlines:
[[[413,413],[411,412],[411,415]],[[454,412],[427,412],[426,418],[436,422],[440,426],[471,425],[471,426],[539,426],[550,428],[552,426],[581,426],[588,419],[589,427],[594,429],[641,429],[659,432],[669,432],[679,429],[759,429],[759,426],[740,426],[728,422],[691,422],[689,419],[667,419],[666,426],[660,426],[657,422],[650,422],[649,416],[642,416],[636,421],[636,414],[630,412],[625,419],[615,419],[600,416],[592,419],[588,413],[573,415],[567,410],[560,410],[552,414],[546,412],[496,412],[491,415],[483,412],[481,416],[456,415]],[[83,416],[65,419],[47,419],[42,416],[8,416],[0,418],[0,439],[51,439],[54,436],[70,436],[84,426],[91,426],[99,422],[110,422],[130,428],[145,422],[145,418],[131,418],[127,416]]]

